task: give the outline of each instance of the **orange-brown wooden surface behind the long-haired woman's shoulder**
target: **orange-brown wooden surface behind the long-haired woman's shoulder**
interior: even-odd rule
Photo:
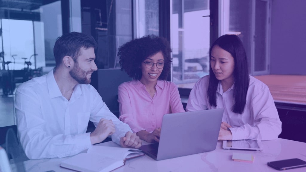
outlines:
[[[262,75],[255,78],[269,87],[274,101],[306,104],[306,76]]]

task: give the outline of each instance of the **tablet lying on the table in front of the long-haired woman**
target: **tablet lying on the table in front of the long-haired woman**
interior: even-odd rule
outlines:
[[[223,149],[261,151],[262,143],[257,140],[223,140]]]

